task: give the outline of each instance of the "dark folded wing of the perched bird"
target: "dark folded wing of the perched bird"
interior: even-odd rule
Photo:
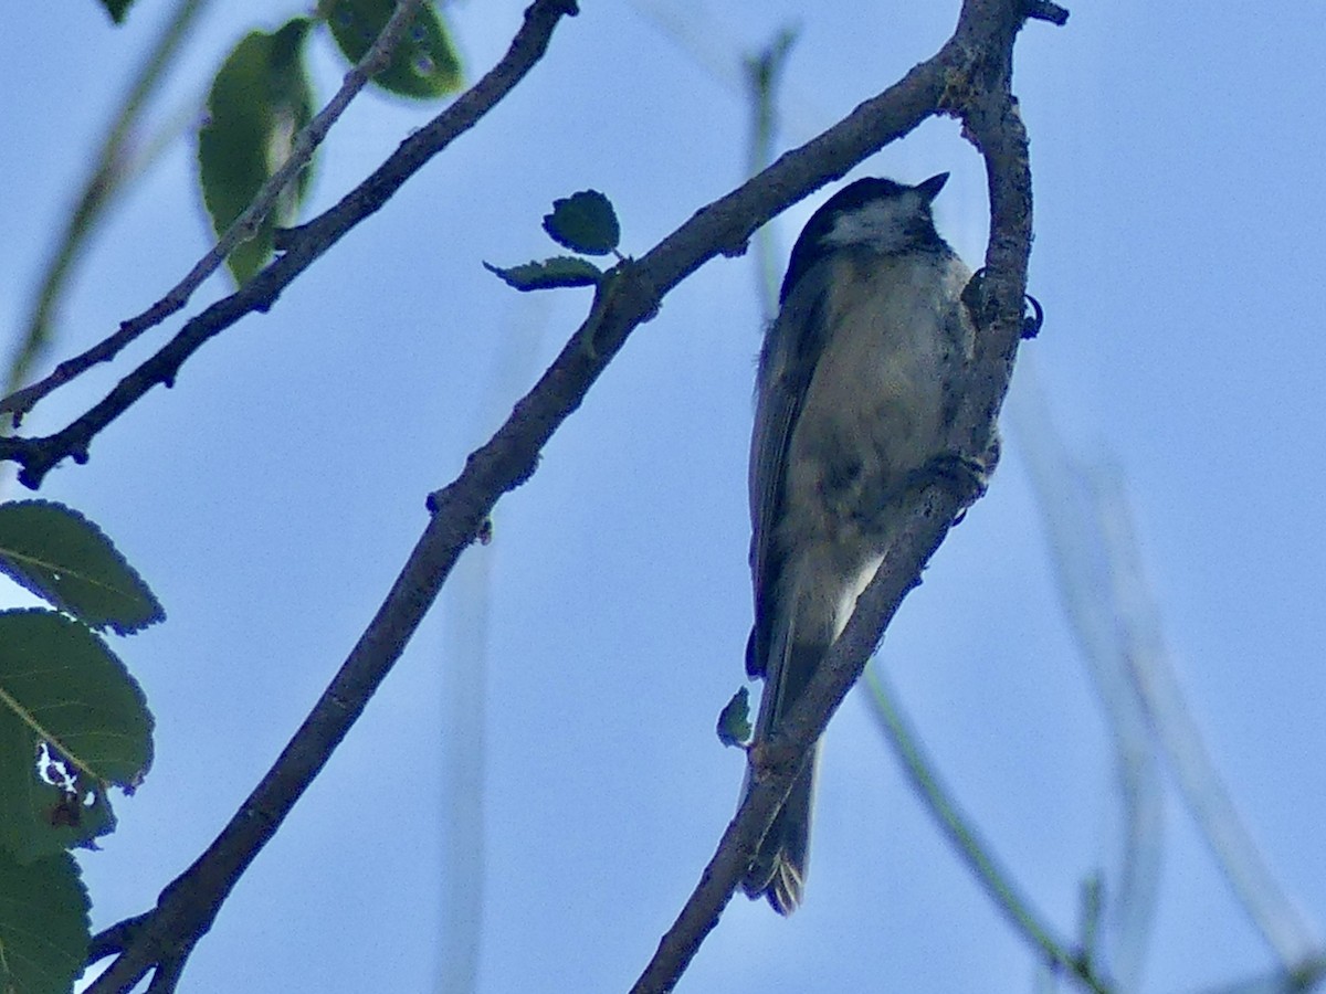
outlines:
[[[776,541],[782,514],[788,448],[806,390],[823,350],[831,261],[806,272],[786,294],[778,318],[765,337],[760,354],[760,390],[751,439],[751,574],[754,580],[754,627],[747,644],[747,673],[765,676],[772,645],[774,596],[784,567],[785,550]]]

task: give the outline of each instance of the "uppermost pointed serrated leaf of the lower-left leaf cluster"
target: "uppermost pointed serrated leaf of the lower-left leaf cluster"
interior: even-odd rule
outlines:
[[[129,635],[166,618],[102,530],[62,504],[0,504],[0,573],[93,628]]]

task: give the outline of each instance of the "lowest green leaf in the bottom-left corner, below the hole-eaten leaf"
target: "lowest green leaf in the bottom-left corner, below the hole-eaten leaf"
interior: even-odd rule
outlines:
[[[19,863],[0,850],[0,991],[72,991],[88,961],[88,909],[68,852]]]

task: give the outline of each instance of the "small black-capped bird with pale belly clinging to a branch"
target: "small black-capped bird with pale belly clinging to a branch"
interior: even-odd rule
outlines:
[[[857,180],[792,249],[760,354],[751,443],[747,671],[765,681],[756,742],[847,624],[902,501],[945,453],[975,341],[961,302],[971,270],[931,216],[947,179]],[[743,881],[780,914],[802,897],[814,767],[812,757]]]

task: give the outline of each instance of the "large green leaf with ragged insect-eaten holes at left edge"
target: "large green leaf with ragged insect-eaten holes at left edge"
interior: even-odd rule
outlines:
[[[0,848],[30,861],[111,831],[107,790],[147,775],[151,733],[142,689],[93,632],[0,612]]]

